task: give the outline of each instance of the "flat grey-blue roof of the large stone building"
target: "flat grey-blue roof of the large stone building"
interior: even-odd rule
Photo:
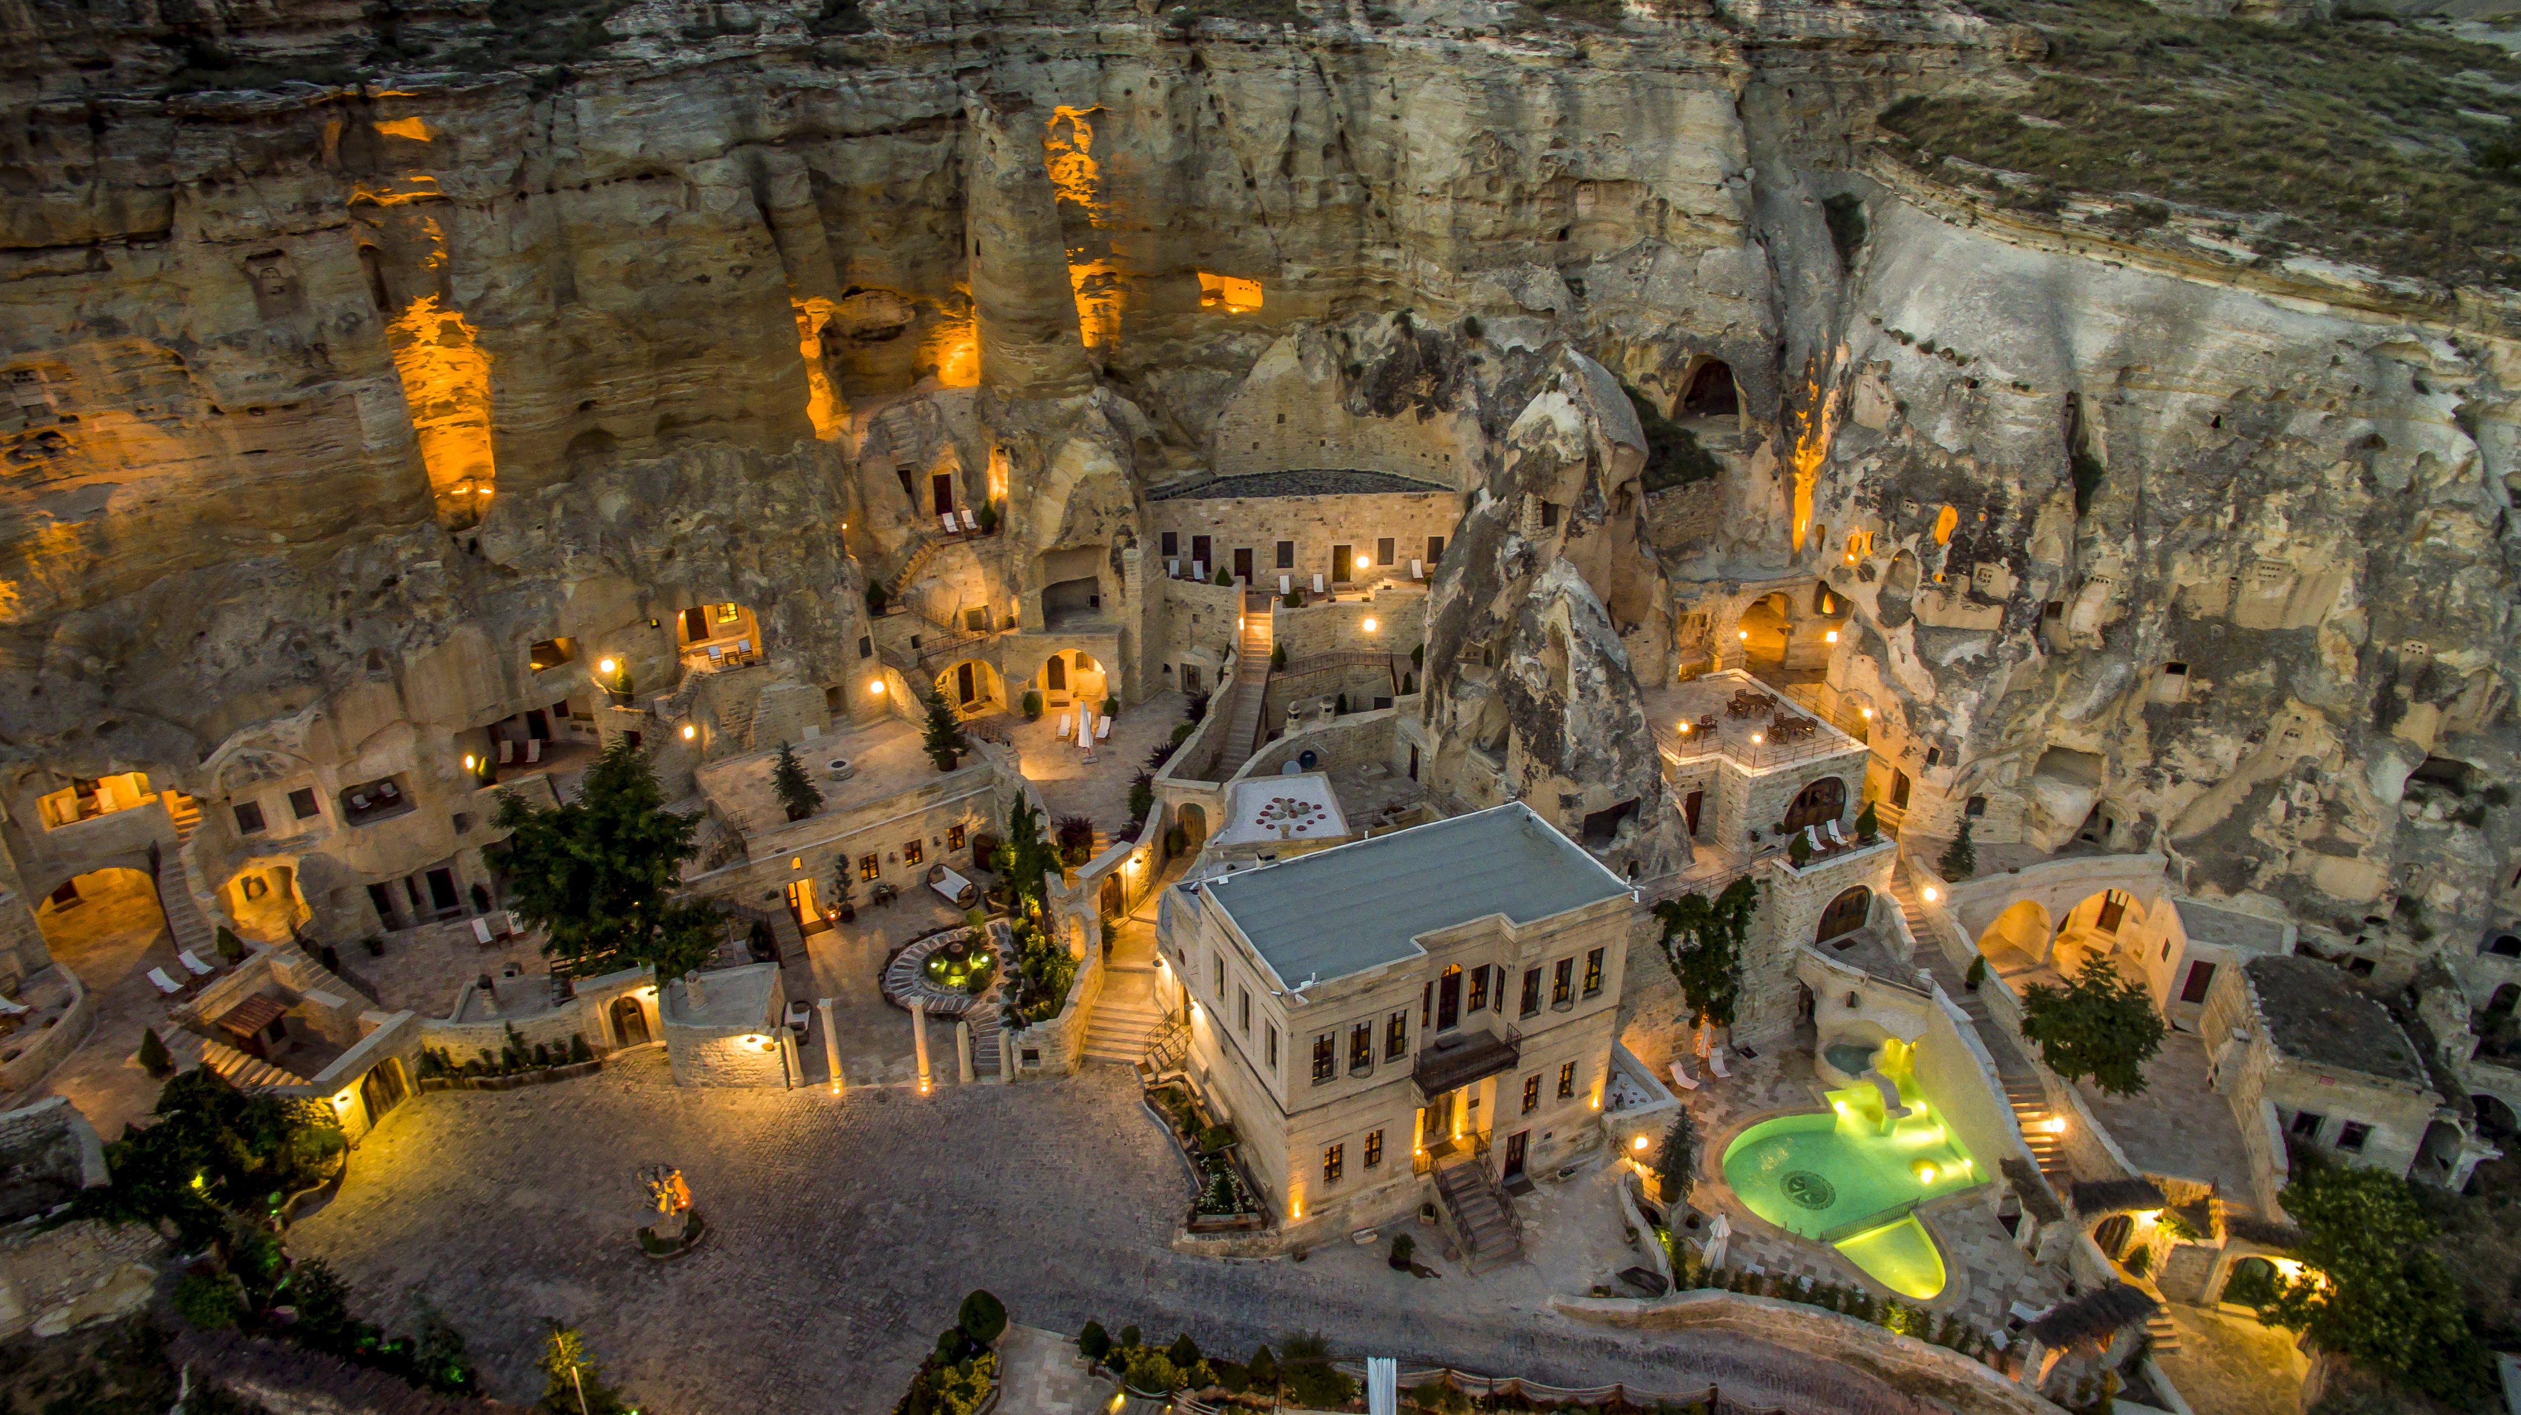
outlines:
[[[1533,924],[1629,884],[1508,803],[1203,884],[1288,987],[1424,954],[1419,934],[1487,914]]]

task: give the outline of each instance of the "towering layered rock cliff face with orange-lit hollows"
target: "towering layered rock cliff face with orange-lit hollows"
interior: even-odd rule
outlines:
[[[1139,496],[1291,337],[1351,415],[1462,428],[1447,753],[1641,801],[1644,869],[1687,843],[1639,685],[1825,577],[1825,697],[1913,828],[2158,846],[2392,959],[2498,916],[2498,305],[1871,166],[1886,103],[2017,63],[1964,5],[1213,10],[10,10],[13,811],[217,796],[222,745],[378,685],[466,730],[550,700],[555,637],[658,682],[650,619],[721,599],[860,710],[867,582],[1145,624]],[[1729,408],[1707,534],[1649,524],[1629,390]],[[930,546],[935,478],[1008,534]]]

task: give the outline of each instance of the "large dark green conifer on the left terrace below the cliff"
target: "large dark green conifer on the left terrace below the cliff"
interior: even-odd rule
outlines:
[[[718,909],[676,899],[683,861],[701,851],[701,818],[666,811],[648,753],[630,738],[595,758],[577,801],[537,811],[502,791],[497,823],[509,836],[484,854],[507,876],[509,909],[545,929],[545,954],[628,954],[663,979],[716,952]]]

